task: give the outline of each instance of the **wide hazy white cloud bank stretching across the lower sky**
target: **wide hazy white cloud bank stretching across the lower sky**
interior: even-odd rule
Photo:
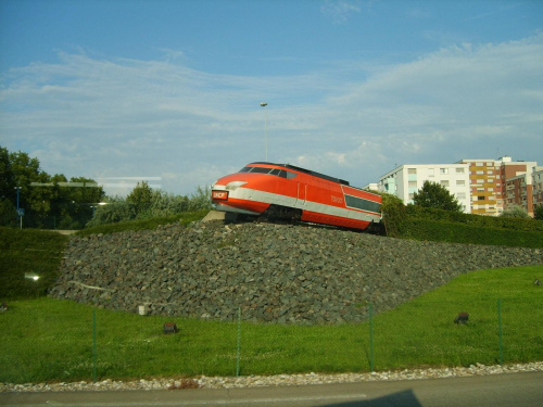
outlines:
[[[364,66],[356,81],[342,78],[361,75],[330,67],[245,77],[60,53],[55,64],[2,76],[1,144],[37,156],[49,174],[144,174],[187,194],[264,160],[265,100],[270,161],[356,186],[394,165],[487,158],[497,150],[541,161],[543,35]]]

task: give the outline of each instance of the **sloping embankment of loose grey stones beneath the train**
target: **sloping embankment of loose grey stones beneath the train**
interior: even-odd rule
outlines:
[[[253,322],[342,323],[460,274],[535,264],[543,250],[211,221],[74,237],[50,295],[151,315],[231,321],[240,309]]]

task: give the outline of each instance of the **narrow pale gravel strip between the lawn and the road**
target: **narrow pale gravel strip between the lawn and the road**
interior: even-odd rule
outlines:
[[[329,383],[357,383],[371,381],[421,380],[438,378],[460,378],[469,376],[489,376],[502,373],[518,373],[543,371],[543,361],[516,365],[485,366],[481,364],[470,367],[413,369],[401,371],[383,371],[372,373],[338,373],[338,374],[277,374],[277,376],[243,376],[194,379],[152,379],[138,381],[113,381],[111,379],[92,382],[73,383],[0,383],[0,392],[77,392],[77,391],[127,391],[127,390],[180,390],[180,389],[233,389],[264,387]]]

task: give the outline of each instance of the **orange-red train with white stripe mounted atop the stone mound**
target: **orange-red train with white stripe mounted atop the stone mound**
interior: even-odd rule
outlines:
[[[381,220],[381,196],[289,164],[251,163],[212,186],[218,211],[353,229]]]

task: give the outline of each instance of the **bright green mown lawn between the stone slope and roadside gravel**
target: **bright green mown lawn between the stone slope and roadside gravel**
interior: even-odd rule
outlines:
[[[543,266],[463,275],[372,319],[375,370],[543,360]],[[466,325],[455,325],[459,311]],[[0,381],[233,376],[238,323],[93,309],[47,297],[0,315]],[[179,332],[164,334],[163,323]],[[295,327],[241,322],[240,374],[370,370],[369,322]],[[9,352],[7,352],[9,349]]]

